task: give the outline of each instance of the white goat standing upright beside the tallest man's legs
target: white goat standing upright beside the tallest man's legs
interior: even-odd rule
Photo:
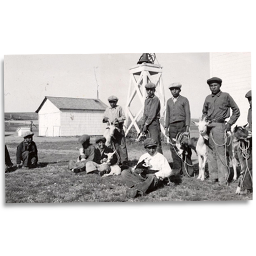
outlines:
[[[198,180],[204,181],[205,179],[205,164],[207,161],[207,147],[205,144],[205,140],[209,140],[209,136],[207,134],[207,126],[210,122],[206,122],[205,118],[199,118],[199,122],[194,122],[194,124],[198,126],[199,130],[199,138],[197,141],[196,151],[198,155],[198,165],[199,165],[199,176]]]

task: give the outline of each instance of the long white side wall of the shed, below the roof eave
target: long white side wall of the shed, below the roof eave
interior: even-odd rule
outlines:
[[[61,110],[60,136],[103,135],[104,111]]]

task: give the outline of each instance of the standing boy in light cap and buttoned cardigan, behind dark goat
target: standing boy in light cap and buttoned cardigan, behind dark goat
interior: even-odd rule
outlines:
[[[178,82],[170,84],[169,90],[173,97],[168,99],[166,104],[165,134],[170,138],[173,145],[175,144],[173,139],[176,138],[178,133],[189,133],[190,107],[188,99],[180,95],[181,86]],[[186,159],[186,161],[182,161],[177,155],[177,147],[173,145],[170,145],[173,158],[173,174],[180,174],[182,170],[184,176],[192,176],[194,168],[191,161],[191,149],[188,148],[186,158],[181,156]]]

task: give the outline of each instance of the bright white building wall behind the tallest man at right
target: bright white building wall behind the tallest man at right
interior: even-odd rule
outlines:
[[[239,106],[238,125],[247,123],[249,109],[245,94],[252,89],[251,52],[210,52],[210,76],[223,80],[221,90]]]

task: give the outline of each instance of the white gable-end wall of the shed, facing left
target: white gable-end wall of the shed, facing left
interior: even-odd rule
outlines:
[[[38,122],[39,136],[60,136],[60,111],[48,99],[38,112]]]

